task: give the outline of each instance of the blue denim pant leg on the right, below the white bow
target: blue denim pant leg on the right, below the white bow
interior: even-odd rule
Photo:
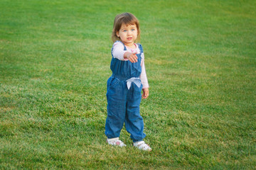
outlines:
[[[132,83],[128,91],[127,113],[124,120],[125,128],[131,134],[133,142],[139,142],[146,137],[144,134],[143,118],[139,114],[139,105],[142,101],[142,86],[139,88]]]

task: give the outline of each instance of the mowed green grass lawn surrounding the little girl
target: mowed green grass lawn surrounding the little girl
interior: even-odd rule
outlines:
[[[0,1],[0,169],[256,169],[255,1]],[[141,23],[152,152],[106,145],[114,16]]]

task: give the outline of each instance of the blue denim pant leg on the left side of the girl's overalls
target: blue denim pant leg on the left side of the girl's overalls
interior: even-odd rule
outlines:
[[[107,120],[105,125],[105,135],[107,138],[119,137],[124,125],[126,112],[126,95],[120,91],[124,86],[121,81],[107,89]]]

